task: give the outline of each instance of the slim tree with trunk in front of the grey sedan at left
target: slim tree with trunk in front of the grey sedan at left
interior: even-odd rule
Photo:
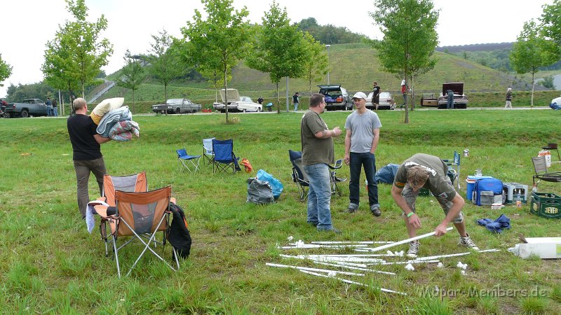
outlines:
[[[182,59],[171,49],[173,40],[168,31],[163,29],[158,35],[152,35],[154,43],[151,43],[151,50],[147,56],[149,72],[156,80],[163,84],[163,103],[168,102],[168,85],[171,80],[178,78],[186,72],[186,67]]]

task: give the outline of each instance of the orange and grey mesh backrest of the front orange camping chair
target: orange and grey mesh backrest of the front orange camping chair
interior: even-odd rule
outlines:
[[[117,190],[115,193],[116,214],[126,221],[137,234],[154,232],[169,209],[171,186],[144,193],[128,193]],[[119,223],[117,235],[133,235],[126,224]],[[168,228],[164,220],[158,231]]]

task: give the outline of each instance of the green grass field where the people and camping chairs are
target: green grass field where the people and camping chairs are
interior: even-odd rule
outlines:
[[[344,126],[348,113],[325,113],[330,127]],[[400,163],[414,153],[452,158],[454,150],[470,150],[461,159],[461,195],[466,175],[475,169],[503,182],[532,186],[530,157],[548,142],[560,142],[559,111],[414,111],[403,124],[403,111],[381,111],[381,141],[377,167]],[[381,266],[395,276],[367,273],[343,276],[367,284],[348,285],[290,269],[266,267],[266,262],[318,267],[311,262],[283,260],[280,253],[334,253],[334,250],[283,251],[287,237],[295,241],[398,241],[407,238],[390,186],[379,186],[382,216],[367,211],[364,186],[356,214],[344,212],[348,187],[333,197],[332,218],[341,235],[316,232],[306,224],[306,204],[299,202],[290,179],[288,149],[299,150],[302,113],[235,114],[234,125],[224,115],[135,116],[140,139],[102,145],[107,171],[126,175],[146,171],[151,189],[173,186],[187,213],[193,247],[180,272],[172,272],[154,257],[145,256],[132,274],[117,279],[114,260],[104,257],[97,229],[88,234],[76,205],[72,147],[64,118],[0,120],[0,309],[4,314],[560,314],[561,260],[523,260],[507,251],[518,237],[558,237],[559,220],[507,206],[464,208],[468,232],[482,249],[461,258],[416,265]],[[234,139],[234,151],[248,158],[252,174],[178,172],[175,149],[202,151],[201,139]],[[337,157],[344,141],[336,139]],[[557,160],[557,158],[553,158]],[[265,169],[284,184],[275,204],[247,204],[246,183]],[[561,171],[555,163],[552,171]],[[338,172],[349,176],[348,167]],[[540,183],[539,191],[561,195],[561,186]],[[90,178],[90,200],[97,197]],[[417,210],[431,232],[442,210],[431,197],[419,197]],[[512,229],[493,235],[475,223],[506,214]],[[421,240],[419,255],[461,253],[457,232]],[[140,246],[134,246],[142,249]],[[133,248],[129,248],[133,249]],[[161,248],[159,248],[161,249]],[[170,258],[170,248],[165,248]],[[391,248],[407,250],[407,246]],[[347,251],[351,253],[350,251]],[[132,265],[132,251],[123,251],[121,266]],[[456,267],[468,264],[462,275]],[[330,268],[330,267],[327,267]],[[380,292],[379,287],[407,296]],[[438,290],[435,288],[438,287]]]

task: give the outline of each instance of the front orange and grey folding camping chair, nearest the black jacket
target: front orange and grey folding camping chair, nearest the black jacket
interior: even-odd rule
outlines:
[[[168,267],[177,271],[180,268],[179,260],[177,260],[177,253],[175,248],[172,247],[173,258],[177,267],[173,267],[169,262],[164,260],[161,255],[158,255],[154,249],[157,244],[162,244],[165,248],[165,235],[170,225],[170,201],[171,201],[171,186],[160,188],[158,190],[151,190],[148,192],[124,192],[116,190],[115,192],[115,213],[108,213],[107,206],[95,206],[95,211],[98,214],[104,214],[104,218],[111,227],[111,239],[113,243],[113,251],[115,255],[115,262],[117,265],[117,273],[121,278],[121,265],[119,263],[119,251],[132,241],[139,240],[144,244],[144,248],[138,255],[133,265],[127,272],[127,276],[133,268],[140,261],[144,253],[153,253],[159,260],[165,262]],[[110,209],[109,209],[110,210]],[[163,240],[156,240],[156,232],[163,231]],[[131,237],[121,245],[117,245],[120,237]],[[147,241],[145,241],[147,239]],[[154,248],[150,245],[154,244]]]

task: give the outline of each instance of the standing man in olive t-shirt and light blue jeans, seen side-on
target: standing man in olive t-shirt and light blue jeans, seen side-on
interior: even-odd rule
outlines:
[[[307,222],[320,231],[340,233],[331,223],[331,186],[327,164],[334,162],[333,139],[341,134],[339,127],[329,130],[320,117],[325,111],[322,94],[310,97],[310,109],[302,116],[300,139],[302,140],[302,168],[308,176]]]

